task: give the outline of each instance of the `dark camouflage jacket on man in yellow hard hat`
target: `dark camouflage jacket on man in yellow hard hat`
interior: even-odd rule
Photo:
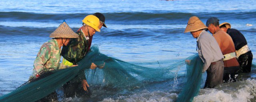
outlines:
[[[77,65],[81,59],[84,58],[88,52],[88,41],[86,40],[82,30],[76,32],[79,36],[78,38],[73,38],[69,41],[67,46],[62,47],[61,55],[67,61]]]

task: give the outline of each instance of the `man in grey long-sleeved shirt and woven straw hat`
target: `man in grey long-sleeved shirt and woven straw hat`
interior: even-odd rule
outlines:
[[[188,20],[184,33],[190,32],[196,38],[198,55],[204,63],[203,71],[207,72],[204,88],[214,88],[222,83],[224,64],[223,55],[217,41],[204,29],[207,27],[196,16]],[[186,60],[186,62],[189,62]]]

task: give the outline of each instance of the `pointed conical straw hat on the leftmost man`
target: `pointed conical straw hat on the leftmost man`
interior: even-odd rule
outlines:
[[[69,26],[63,21],[60,26],[50,34],[50,37],[62,37],[62,38],[78,38],[76,34]]]

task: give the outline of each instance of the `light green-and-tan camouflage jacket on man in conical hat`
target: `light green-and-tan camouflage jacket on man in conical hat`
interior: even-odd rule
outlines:
[[[36,56],[36,60],[34,61],[33,75],[31,77],[34,77],[36,73],[43,69],[58,69],[61,57],[60,52],[56,39],[50,39],[44,43]]]

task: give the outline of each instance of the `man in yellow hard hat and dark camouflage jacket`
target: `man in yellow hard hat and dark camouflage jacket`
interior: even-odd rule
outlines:
[[[92,43],[92,36],[95,32],[100,31],[102,26],[106,27],[106,24],[104,23],[105,17],[100,13],[95,13],[94,15],[88,15],[82,20],[83,26],[76,32],[79,36],[78,39],[72,39],[66,47],[63,47],[62,57],[64,60],[62,65],[76,65],[86,53],[88,53]],[[98,18],[96,16],[98,16]],[[100,21],[99,18],[102,18],[103,22]],[[96,67],[97,66],[92,63],[90,69],[95,69]],[[102,68],[102,66],[99,68]],[[63,86],[64,95],[65,97],[74,97],[75,95],[84,96],[85,93],[88,92],[88,87],[89,85],[86,81],[85,73],[81,72],[73,80],[67,82]]]

